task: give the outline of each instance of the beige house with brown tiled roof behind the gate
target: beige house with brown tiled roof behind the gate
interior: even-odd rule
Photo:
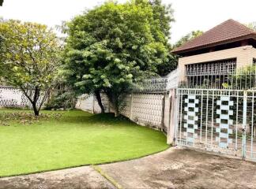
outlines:
[[[206,31],[172,51],[179,55],[179,81],[224,83],[230,73],[256,63],[256,32],[235,20]]]

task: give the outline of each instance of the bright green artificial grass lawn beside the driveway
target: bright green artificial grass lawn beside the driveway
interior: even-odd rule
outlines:
[[[0,109],[0,114],[17,111],[24,110]],[[32,124],[0,126],[1,177],[123,161],[168,148],[162,132],[112,114],[61,113]]]

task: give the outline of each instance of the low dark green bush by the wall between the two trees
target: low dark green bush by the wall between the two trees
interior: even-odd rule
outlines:
[[[44,109],[74,109],[76,106],[77,98],[73,92],[58,92],[52,95],[50,101],[45,104]]]

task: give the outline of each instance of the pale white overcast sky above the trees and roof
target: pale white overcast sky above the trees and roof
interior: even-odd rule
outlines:
[[[119,0],[124,2],[125,0]],[[104,0],[4,0],[0,17],[35,21],[49,26],[70,20]],[[255,0],[163,0],[175,9],[171,42],[193,30],[207,31],[232,18],[243,24],[256,21]]]

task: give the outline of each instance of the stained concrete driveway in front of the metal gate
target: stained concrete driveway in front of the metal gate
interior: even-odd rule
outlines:
[[[115,187],[256,188],[256,164],[171,148],[132,161],[0,179],[0,188]]]

